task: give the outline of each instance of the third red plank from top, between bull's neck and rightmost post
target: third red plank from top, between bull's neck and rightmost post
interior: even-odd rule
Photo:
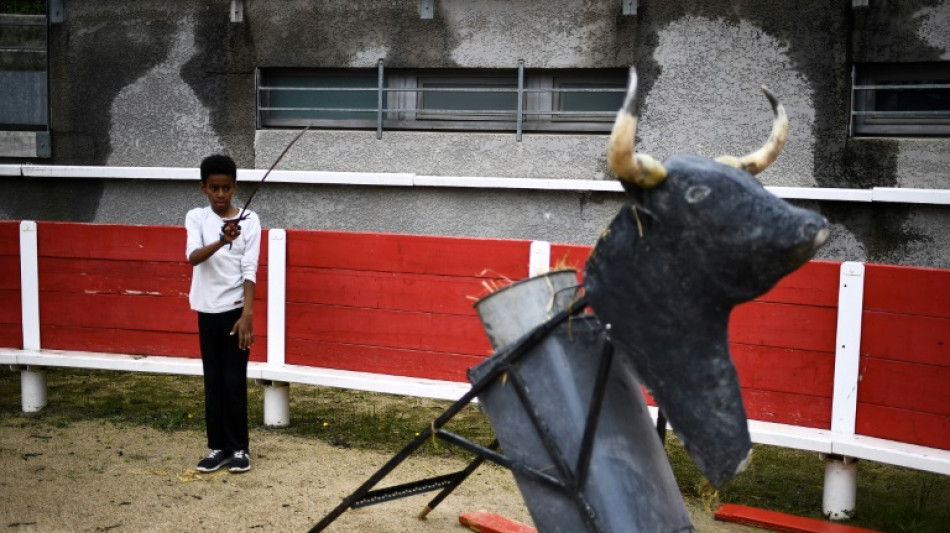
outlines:
[[[736,343],[729,351],[743,388],[826,398],[834,392],[833,353]]]

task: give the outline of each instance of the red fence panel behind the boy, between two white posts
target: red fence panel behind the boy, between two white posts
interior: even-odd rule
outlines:
[[[184,228],[41,222],[38,253],[43,348],[200,357]],[[266,285],[261,268],[255,361],[266,358]]]

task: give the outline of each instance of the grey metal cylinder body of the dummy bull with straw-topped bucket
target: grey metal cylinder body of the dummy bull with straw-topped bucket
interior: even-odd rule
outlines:
[[[489,333],[493,343],[520,339],[573,301],[573,271],[548,276],[555,279],[531,278],[488,297],[496,305],[476,304],[486,330],[494,333]],[[528,329],[519,331],[514,324]],[[606,342],[595,317],[571,318],[529,348],[504,377],[485,386],[478,396],[505,456],[568,487],[552,487],[513,468],[531,517],[542,533],[691,530],[638,380],[624,364],[626,358],[613,358],[602,390],[604,402],[587,480],[582,486],[573,484]],[[469,379],[478,383],[498,366],[494,359],[503,355],[472,368]]]

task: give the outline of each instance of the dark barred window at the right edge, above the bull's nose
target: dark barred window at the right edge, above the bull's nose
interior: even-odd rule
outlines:
[[[950,135],[950,63],[855,65],[853,135]]]

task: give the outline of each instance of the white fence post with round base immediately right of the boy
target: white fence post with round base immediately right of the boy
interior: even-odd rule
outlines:
[[[267,367],[280,369],[286,362],[287,320],[287,232],[268,232],[267,253]],[[264,425],[290,425],[290,384],[262,381],[264,385]]]

